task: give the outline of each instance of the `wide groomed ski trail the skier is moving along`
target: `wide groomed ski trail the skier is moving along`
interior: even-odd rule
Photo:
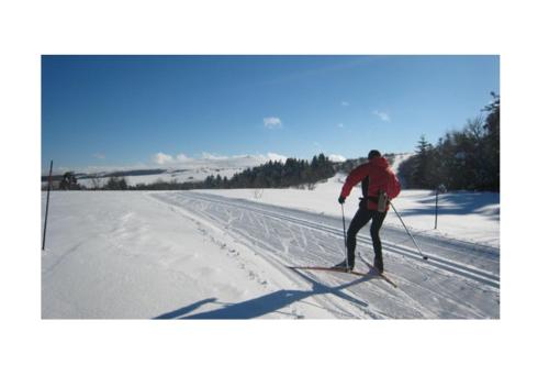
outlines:
[[[332,266],[343,259],[341,219],[202,192],[152,192],[157,201],[220,228],[296,283],[318,288],[327,308],[348,309],[341,317],[372,319],[500,318],[500,251],[414,233],[424,261],[404,230],[381,232],[385,270],[394,288],[376,276],[357,279],[344,273],[299,272],[285,266]],[[348,211],[356,209],[347,206]],[[352,212],[354,213],[354,212]],[[347,223],[348,224],[348,223]],[[372,259],[367,225],[357,252]],[[357,269],[368,270],[357,256]]]

